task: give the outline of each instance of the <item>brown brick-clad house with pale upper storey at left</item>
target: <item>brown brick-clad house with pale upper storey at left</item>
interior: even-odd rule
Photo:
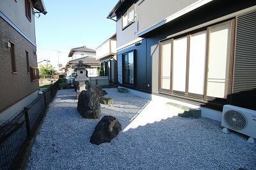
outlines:
[[[0,121],[38,95],[35,13],[47,13],[42,0],[0,1]]]

